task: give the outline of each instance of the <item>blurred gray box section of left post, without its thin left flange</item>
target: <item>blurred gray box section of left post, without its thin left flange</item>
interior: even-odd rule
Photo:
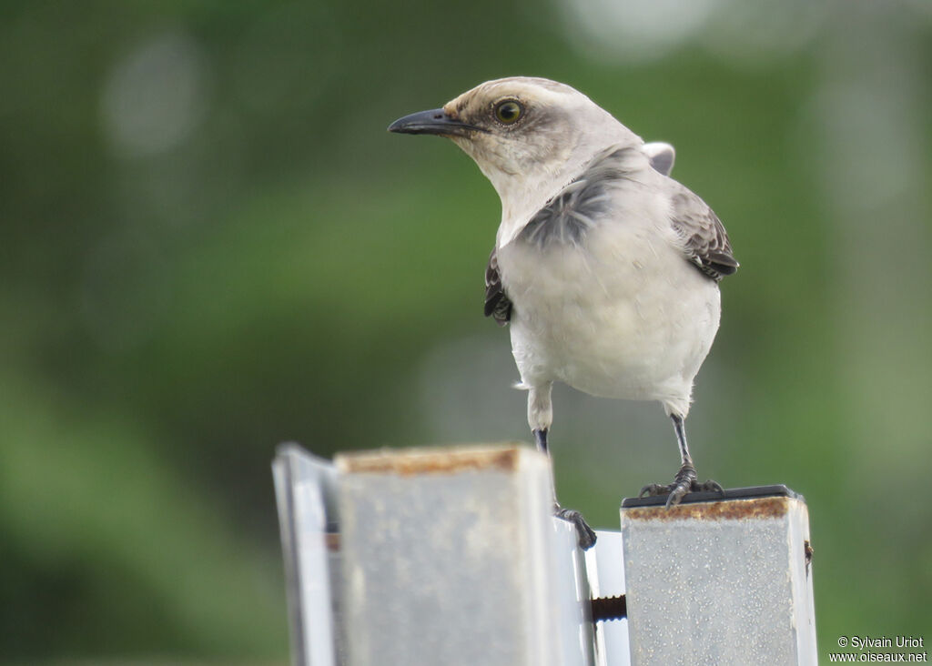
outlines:
[[[349,664],[590,663],[588,590],[575,532],[551,517],[545,455],[461,447],[335,462]]]

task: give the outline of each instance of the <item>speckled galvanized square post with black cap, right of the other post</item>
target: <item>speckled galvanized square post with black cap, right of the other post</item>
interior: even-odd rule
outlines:
[[[812,549],[786,486],[622,505],[633,664],[816,664]],[[705,501],[703,501],[705,500]]]

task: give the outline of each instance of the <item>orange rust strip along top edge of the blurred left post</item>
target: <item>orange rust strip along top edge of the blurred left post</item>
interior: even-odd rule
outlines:
[[[337,455],[336,469],[354,474],[458,474],[463,471],[514,472],[524,447],[382,449]],[[530,453],[525,450],[525,453]]]

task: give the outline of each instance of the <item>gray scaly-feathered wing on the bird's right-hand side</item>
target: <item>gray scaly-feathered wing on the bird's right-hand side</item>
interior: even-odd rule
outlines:
[[[719,216],[701,198],[676,184],[678,190],[673,195],[671,223],[683,240],[687,259],[716,282],[732,275],[738,269],[738,262]]]

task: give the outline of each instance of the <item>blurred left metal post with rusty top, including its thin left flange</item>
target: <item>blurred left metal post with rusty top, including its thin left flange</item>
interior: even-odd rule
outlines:
[[[297,666],[594,666],[575,529],[523,446],[280,450]],[[620,563],[619,563],[620,564]]]

